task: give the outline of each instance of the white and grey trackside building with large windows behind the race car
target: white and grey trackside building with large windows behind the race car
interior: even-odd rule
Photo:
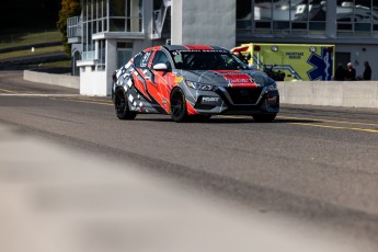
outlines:
[[[378,79],[378,0],[82,0],[68,20],[80,93],[110,95],[112,72],[162,44],[335,44],[335,61],[364,61]]]

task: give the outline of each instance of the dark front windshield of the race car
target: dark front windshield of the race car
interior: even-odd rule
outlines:
[[[248,69],[236,55],[227,50],[172,50],[176,69],[183,70],[239,70]]]

